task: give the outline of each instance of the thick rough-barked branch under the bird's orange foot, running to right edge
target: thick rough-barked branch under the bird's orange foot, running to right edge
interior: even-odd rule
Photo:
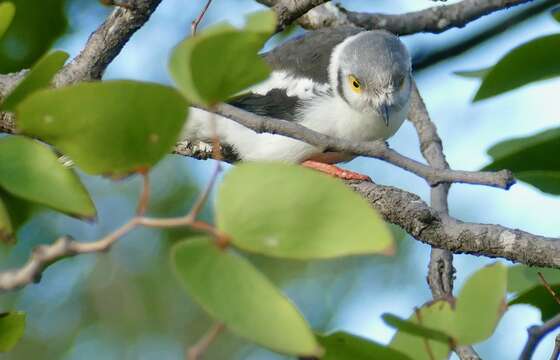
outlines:
[[[189,148],[187,142],[183,147]],[[199,149],[200,151],[200,149]],[[203,158],[209,158],[208,149]],[[530,266],[560,268],[560,239],[501,225],[465,223],[428,206],[407,191],[370,182],[348,182],[388,222],[415,239],[459,254],[498,257]]]

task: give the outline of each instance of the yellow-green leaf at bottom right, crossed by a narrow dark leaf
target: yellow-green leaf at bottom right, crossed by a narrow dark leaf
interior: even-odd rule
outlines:
[[[448,333],[453,326],[453,311],[445,300],[439,300],[417,309],[408,321],[428,329]],[[414,360],[443,360],[451,351],[451,344],[433,341],[404,331],[398,331],[389,347],[407,354]]]

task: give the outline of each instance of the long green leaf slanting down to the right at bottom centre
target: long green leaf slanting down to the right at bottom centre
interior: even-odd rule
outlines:
[[[172,259],[187,292],[234,333],[285,354],[321,354],[300,313],[246,260],[206,237],[178,243]]]

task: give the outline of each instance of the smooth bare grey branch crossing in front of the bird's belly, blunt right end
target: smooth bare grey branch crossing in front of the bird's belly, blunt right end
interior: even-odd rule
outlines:
[[[387,161],[424,178],[431,186],[441,183],[460,182],[508,189],[514,183],[513,176],[508,170],[473,172],[434,169],[397,153],[382,141],[353,142],[334,138],[294,122],[259,116],[227,104],[221,104],[213,107],[211,110],[205,110],[232,119],[257,133],[266,132],[284,135],[317,146],[322,150],[368,156]]]

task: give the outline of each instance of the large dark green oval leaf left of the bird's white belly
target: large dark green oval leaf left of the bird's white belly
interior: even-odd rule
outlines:
[[[40,90],[16,108],[17,126],[90,174],[145,170],[171,152],[187,115],[173,88],[136,81]]]

